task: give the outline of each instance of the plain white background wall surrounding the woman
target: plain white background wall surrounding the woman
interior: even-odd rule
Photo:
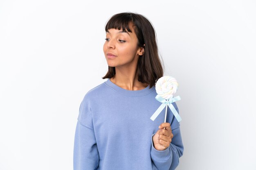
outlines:
[[[79,105],[103,83],[105,24],[154,25],[165,75],[179,82],[177,170],[256,169],[253,0],[0,1],[0,170],[72,170]]]

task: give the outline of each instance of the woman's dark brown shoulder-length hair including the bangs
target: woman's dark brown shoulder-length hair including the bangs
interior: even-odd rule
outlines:
[[[158,55],[155,29],[150,21],[137,13],[117,13],[107,22],[105,31],[115,28],[131,33],[132,31],[129,28],[130,22],[134,25],[138,46],[144,47],[144,54],[139,57],[137,63],[138,81],[149,84],[151,88],[163,76],[164,70]],[[112,78],[115,74],[115,67],[108,66],[108,72],[102,78]]]

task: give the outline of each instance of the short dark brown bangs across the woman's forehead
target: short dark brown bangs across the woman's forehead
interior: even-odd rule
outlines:
[[[132,33],[129,27],[130,22],[133,23],[133,18],[129,13],[116,14],[106,24],[105,31],[107,32],[109,29],[114,28]]]

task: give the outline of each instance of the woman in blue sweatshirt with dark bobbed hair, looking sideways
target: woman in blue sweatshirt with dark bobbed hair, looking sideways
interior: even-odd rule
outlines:
[[[173,170],[183,155],[180,124],[171,110],[166,123],[164,113],[150,120],[163,76],[154,28],[143,15],[119,13],[105,31],[108,79],[81,102],[74,170]]]

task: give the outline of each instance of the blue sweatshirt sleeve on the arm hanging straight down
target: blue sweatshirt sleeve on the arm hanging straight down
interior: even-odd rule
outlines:
[[[92,112],[83,99],[79,108],[74,138],[74,170],[95,170],[99,165],[99,152],[92,124]]]

